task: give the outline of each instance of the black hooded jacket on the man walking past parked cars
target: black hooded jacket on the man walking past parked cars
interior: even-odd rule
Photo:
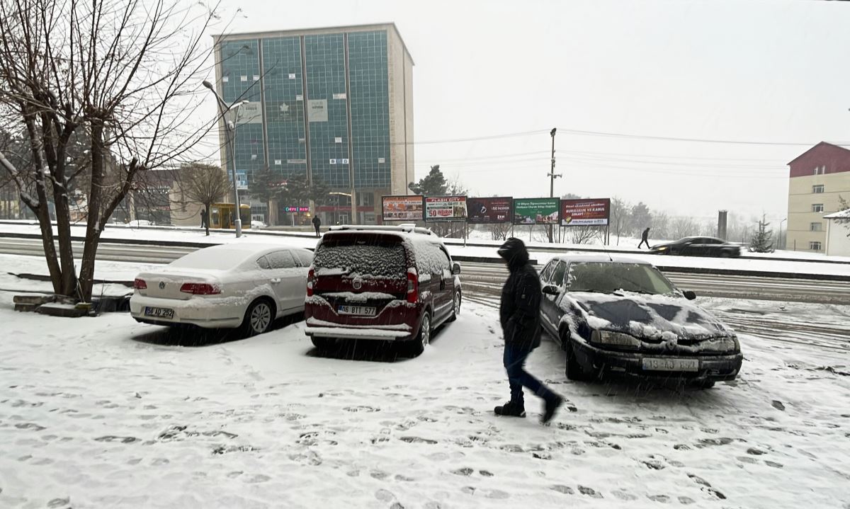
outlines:
[[[505,342],[524,350],[540,346],[540,277],[529,263],[522,240],[508,239],[499,248],[511,275],[501,289],[499,319]]]

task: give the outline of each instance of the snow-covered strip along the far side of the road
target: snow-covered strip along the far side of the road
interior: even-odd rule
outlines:
[[[40,230],[35,224],[24,223],[0,223],[0,232],[9,233],[28,233],[39,234]],[[82,226],[75,226],[72,229],[73,235],[84,236],[85,229]],[[209,236],[204,235],[200,228],[196,231],[185,231],[181,229],[132,229],[124,227],[107,227],[103,234],[104,239],[116,240],[170,240],[177,242],[280,242],[290,246],[313,248],[316,244],[316,239],[309,235],[299,236],[276,236],[264,235],[246,232],[241,239],[236,239],[232,233],[213,232]],[[492,242],[492,246],[462,246],[455,243],[456,240],[448,240],[446,242],[450,254],[453,257],[487,257],[497,259],[496,246],[498,242]],[[462,242],[462,241],[457,241]],[[537,260],[538,263],[547,263],[552,257],[558,253],[547,251],[536,251],[535,247],[551,247],[547,244],[531,244],[531,257]],[[734,270],[752,270],[764,273],[783,274],[833,274],[850,276],[850,259],[848,263],[816,263],[816,262],[788,262],[782,260],[770,259],[736,259],[736,258],[708,258],[708,257],[671,257],[657,256],[650,254],[627,254],[623,255],[630,258],[637,258],[655,263],[663,267],[677,268],[700,268],[700,269],[734,269]],[[836,257],[830,257],[833,259]],[[838,258],[836,258],[838,259]]]

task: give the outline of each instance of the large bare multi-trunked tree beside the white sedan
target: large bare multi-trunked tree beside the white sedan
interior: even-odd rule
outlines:
[[[0,153],[0,166],[38,218],[56,293],[91,298],[112,212],[142,172],[184,156],[212,127],[213,119],[199,125],[195,110],[212,51],[206,32],[217,19],[215,9],[183,0],[0,3],[0,118],[31,157],[18,166]],[[81,132],[88,164],[69,167]],[[78,280],[69,193],[77,180],[87,206]]]

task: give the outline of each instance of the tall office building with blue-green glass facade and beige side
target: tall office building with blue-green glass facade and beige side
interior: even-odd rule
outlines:
[[[407,194],[413,179],[412,67],[392,24],[216,37],[218,93],[249,101],[236,128],[237,178],[269,167],[281,182],[320,179],[339,193],[317,204],[324,222],[374,222],[380,196]],[[224,142],[224,126],[219,133]],[[231,157],[222,152],[228,170]],[[280,215],[288,205],[266,218],[289,223]],[[252,212],[264,206],[252,201]]]

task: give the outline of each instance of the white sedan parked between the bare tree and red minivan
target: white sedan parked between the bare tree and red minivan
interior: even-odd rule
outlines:
[[[136,276],[130,313],[156,325],[269,330],[275,318],[303,313],[313,253],[280,244],[207,247]]]

